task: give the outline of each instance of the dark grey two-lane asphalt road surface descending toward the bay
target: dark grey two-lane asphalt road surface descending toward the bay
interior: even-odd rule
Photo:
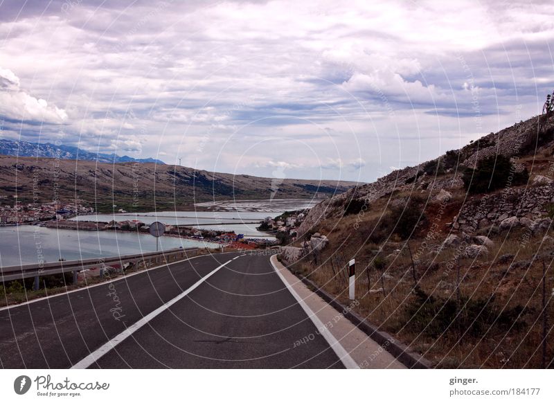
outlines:
[[[202,256],[0,310],[0,366],[71,368],[161,310],[87,366],[343,368],[274,272],[269,256],[238,256]],[[305,337],[310,341],[297,342]]]

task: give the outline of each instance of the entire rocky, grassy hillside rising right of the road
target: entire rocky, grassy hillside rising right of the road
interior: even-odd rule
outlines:
[[[553,134],[535,116],[325,199],[281,258],[345,304],[355,258],[358,313],[434,366],[552,367]]]

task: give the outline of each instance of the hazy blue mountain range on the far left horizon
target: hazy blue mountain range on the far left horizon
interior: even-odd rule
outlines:
[[[0,138],[0,154],[10,156],[39,156],[59,159],[79,159],[82,161],[98,161],[102,163],[157,163],[165,165],[163,161],[153,158],[134,159],[132,156],[118,156],[117,154],[101,154],[89,152],[71,145],[54,145],[51,143],[29,143],[28,141],[14,141]]]

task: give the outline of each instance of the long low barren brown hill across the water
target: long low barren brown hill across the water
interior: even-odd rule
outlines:
[[[0,197],[19,201],[71,202],[75,197],[97,211],[112,206],[131,211],[186,210],[195,202],[221,199],[310,198],[334,195],[355,186],[353,182],[310,181],[253,177],[157,165],[154,163],[96,163],[62,159],[0,156]],[[272,190],[273,186],[273,190]],[[34,199],[35,197],[35,199]]]

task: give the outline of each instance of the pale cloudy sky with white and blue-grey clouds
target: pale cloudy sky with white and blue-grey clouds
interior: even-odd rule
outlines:
[[[538,114],[548,1],[0,0],[1,138],[372,181]]]

